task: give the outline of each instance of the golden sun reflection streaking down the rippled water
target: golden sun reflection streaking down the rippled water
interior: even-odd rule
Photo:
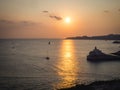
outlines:
[[[74,41],[63,40],[60,48],[60,59],[58,60],[57,71],[60,81],[57,88],[66,88],[73,86],[77,80],[77,62],[74,49]]]

